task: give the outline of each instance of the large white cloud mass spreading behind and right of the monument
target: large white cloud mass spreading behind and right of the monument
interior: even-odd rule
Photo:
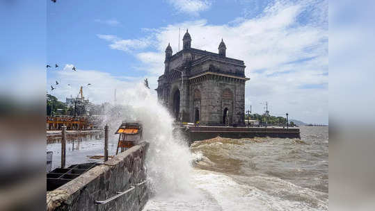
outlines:
[[[244,60],[246,76],[251,78],[246,83],[247,107],[251,104],[253,111],[263,112],[260,102],[269,101],[273,114],[289,112],[292,119],[328,123],[328,28],[317,26],[313,20],[312,24],[298,23],[298,15],[313,6],[316,5],[305,1],[277,1],[262,15],[254,19],[237,19],[230,25],[212,25],[198,20],[150,30],[147,39],[138,40],[146,39],[157,51],[135,53],[143,62],[138,68],[148,71],[155,80],[163,74],[164,50],[170,42],[173,51],[177,51],[179,28],[189,28],[191,45],[197,49],[217,52],[223,37],[227,56]],[[142,48],[136,40],[114,47],[118,40],[106,38],[112,42],[113,49]],[[157,85],[157,81],[153,84]],[[303,86],[310,88],[301,89]]]

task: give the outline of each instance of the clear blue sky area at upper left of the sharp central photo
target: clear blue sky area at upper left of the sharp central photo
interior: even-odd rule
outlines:
[[[205,12],[184,12],[174,6],[170,1],[48,2],[47,60],[77,65],[79,62],[85,69],[100,69],[114,75],[127,71],[127,76],[140,76],[142,73],[132,68],[140,65],[139,61],[129,54],[103,48],[107,43],[98,40],[97,34],[137,39],[148,35],[146,29],[196,19],[205,19],[207,24],[228,24],[241,17],[239,11],[244,3],[207,1]]]

